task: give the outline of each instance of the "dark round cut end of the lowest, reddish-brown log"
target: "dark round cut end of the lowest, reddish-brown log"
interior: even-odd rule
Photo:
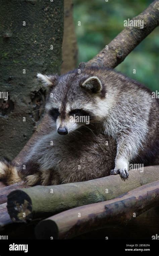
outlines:
[[[38,223],[35,228],[37,239],[58,239],[58,227],[55,221],[44,220]]]

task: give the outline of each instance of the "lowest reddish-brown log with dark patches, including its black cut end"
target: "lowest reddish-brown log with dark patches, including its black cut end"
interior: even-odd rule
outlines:
[[[39,239],[69,239],[108,224],[122,224],[159,205],[159,181],[129,191],[118,198],[84,205],[41,221],[35,228]]]

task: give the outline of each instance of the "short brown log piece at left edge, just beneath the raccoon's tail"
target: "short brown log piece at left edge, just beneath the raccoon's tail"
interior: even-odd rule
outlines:
[[[20,183],[16,183],[10,186],[6,186],[6,187],[0,187],[0,204],[7,202],[7,195],[15,190],[15,189],[20,189],[20,188],[26,188],[28,186],[26,186],[25,182],[20,182]]]

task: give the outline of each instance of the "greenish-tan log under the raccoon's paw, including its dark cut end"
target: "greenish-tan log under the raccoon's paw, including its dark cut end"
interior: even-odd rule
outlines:
[[[158,166],[148,166],[143,172],[130,170],[125,182],[118,174],[85,182],[18,189],[8,195],[7,209],[13,221],[46,218],[77,206],[113,199],[156,180]]]

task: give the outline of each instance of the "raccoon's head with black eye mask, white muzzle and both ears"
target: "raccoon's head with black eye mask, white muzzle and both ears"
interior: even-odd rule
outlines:
[[[101,98],[105,90],[98,77],[78,73],[37,76],[50,87],[46,109],[56,122],[59,134],[65,135],[101,120]]]

